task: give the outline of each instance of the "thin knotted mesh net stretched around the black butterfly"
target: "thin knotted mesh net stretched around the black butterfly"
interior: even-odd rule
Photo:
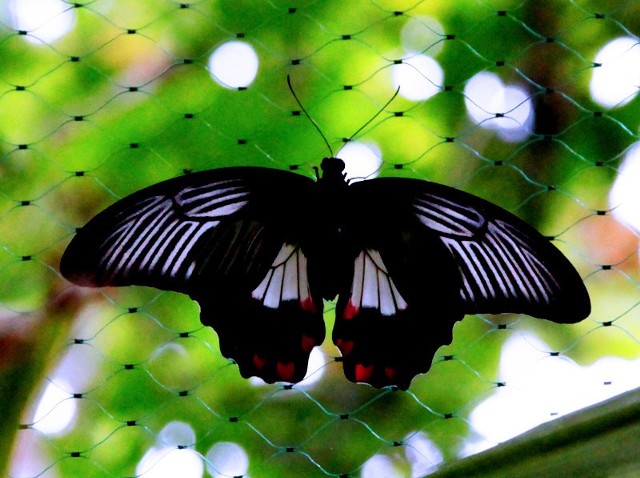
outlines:
[[[4,2],[0,443],[13,452],[0,468],[421,476],[638,385],[639,10],[631,0]],[[313,177],[327,148],[287,75],[334,150],[400,85],[338,154],[351,174],[447,184],[522,217],[576,266],[590,318],[467,316],[406,392],[348,382],[330,340],[307,380],[265,385],[220,355],[186,296],[61,278],[76,228],[144,186],[231,165]]]

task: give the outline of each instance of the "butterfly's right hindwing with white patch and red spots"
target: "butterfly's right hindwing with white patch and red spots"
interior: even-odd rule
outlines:
[[[405,389],[451,341],[453,324],[463,317],[461,280],[434,234],[402,211],[362,197],[352,211],[359,219],[346,231],[354,267],[339,293],[333,342],[349,380]]]

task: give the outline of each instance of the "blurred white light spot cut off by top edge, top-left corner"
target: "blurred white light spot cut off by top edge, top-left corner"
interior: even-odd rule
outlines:
[[[62,0],[10,0],[9,10],[13,27],[28,32],[31,43],[54,42],[75,22],[73,7]]]

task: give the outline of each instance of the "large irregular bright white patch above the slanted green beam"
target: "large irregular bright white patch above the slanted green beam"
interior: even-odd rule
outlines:
[[[628,373],[636,361],[601,359],[580,367],[529,333],[510,337],[502,348],[499,387],[479,403],[469,416],[471,427],[486,441],[467,443],[470,454],[500,443],[557,416],[592,405],[626,390],[636,388],[640,379]],[[626,364],[622,368],[621,365]],[[628,368],[627,368],[628,367]],[[629,378],[631,377],[631,378]],[[612,386],[603,387],[605,380]]]

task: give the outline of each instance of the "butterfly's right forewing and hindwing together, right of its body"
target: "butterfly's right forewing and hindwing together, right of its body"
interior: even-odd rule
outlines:
[[[562,323],[589,314],[570,262],[506,210],[426,181],[383,178],[349,189],[355,260],[333,340],[351,380],[408,387],[464,314]]]

